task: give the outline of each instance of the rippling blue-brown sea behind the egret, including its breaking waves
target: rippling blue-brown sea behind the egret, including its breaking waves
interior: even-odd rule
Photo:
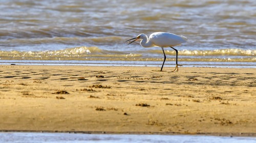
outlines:
[[[184,66],[256,67],[254,0],[0,0],[0,64],[161,66],[161,48],[125,42],[154,32],[188,38]]]

